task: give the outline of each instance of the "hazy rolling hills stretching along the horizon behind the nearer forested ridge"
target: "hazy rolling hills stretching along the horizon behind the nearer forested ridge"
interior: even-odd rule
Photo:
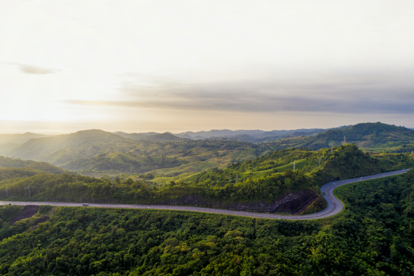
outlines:
[[[10,141],[10,137],[26,139],[30,135],[34,138],[23,144],[0,144],[0,156],[44,161],[79,171],[143,173],[157,169],[165,171],[165,168],[174,166],[190,167],[189,162],[194,163],[191,169],[198,172],[202,168],[206,169],[204,163],[198,162],[206,161],[210,167],[224,166],[235,160],[254,158],[266,151],[289,147],[318,150],[343,144],[344,136],[347,143],[354,143],[364,151],[414,151],[414,130],[380,122],[360,123],[329,130],[212,130],[174,135],[169,132],[110,133],[86,130],[52,137],[39,137],[30,133],[0,137],[3,137],[3,141]],[[243,155],[239,154],[241,151]],[[178,158],[179,162],[169,158]],[[181,169],[178,171],[181,172]]]

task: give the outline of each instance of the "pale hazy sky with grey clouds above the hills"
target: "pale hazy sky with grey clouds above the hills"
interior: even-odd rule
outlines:
[[[414,1],[0,1],[0,132],[414,127]]]

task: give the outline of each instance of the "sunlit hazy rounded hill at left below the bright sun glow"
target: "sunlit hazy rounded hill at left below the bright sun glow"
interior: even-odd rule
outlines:
[[[12,150],[8,156],[46,161],[58,165],[67,163],[70,161],[68,159],[91,157],[108,145],[123,141],[128,141],[128,139],[101,130],[79,131],[72,134],[31,139]]]

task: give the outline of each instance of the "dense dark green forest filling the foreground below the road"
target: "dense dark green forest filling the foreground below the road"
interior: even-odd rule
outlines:
[[[413,190],[414,172],[342,186],[345,210],[314,221],[44,206],[9,226],[3,206],[0,273],[412,275]]]

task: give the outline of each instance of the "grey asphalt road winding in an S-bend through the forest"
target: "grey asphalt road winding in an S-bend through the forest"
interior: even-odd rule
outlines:
[[[222,210],[222,209],[213,209],[213,208],[201,208],[201,207],[187,207],[187,206],[166,206],[166,205],[133,205],[133,204],[99,204],[99,203],[89,203],[89,207],[102,207],[102,208],[128,208],[128,209],[166,209],[166,210],[184,210],[184,211],[198,211],[203,213],[212,213],[212,214],[224,214],[224,215],[233,215],[233,216],[243,216],[243,217],[253,217],[253,218],[264,218],[264,219],[286,219],[286,220],[312,220],[312,219],[322,219],[332,217],[343,209],[342,202],[337,199],[333,192],[336,187],[355,183],[364,180],[371,180],[376,178],[382,178],[387,176],[394,176],[399,174],[404,174],[409,171],[407,169],[401,169],[400,171],[389,172],[378,175],[365,176],[360,178],[353,178],[347,180],[340,180],[335,182],[330,182],[321,187],[321,193],[323,198],[328,203],[328,206],[323,211],[312,215],[303,215],[303,216],[282,216],[282,215],[273,215],[273,214],[260,214],[260,213],[251,213],[244,211],[232,211],[232,210]],[[67,202],[21,202],[21,201],[0,201],[0,204],[14,204],[14,205],[52,205],[52,206],[72,206],[79,207],[82,206],[82,203],[67,203]]]

